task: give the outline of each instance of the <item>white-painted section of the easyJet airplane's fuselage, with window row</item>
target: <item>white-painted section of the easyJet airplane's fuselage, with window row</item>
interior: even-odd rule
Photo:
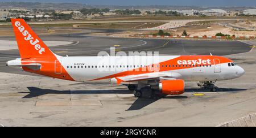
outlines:
[[[158,59],[156,59],[158,58]],[[130,71],[139,67],[150,66],[170,59],[179,58],[179,56],[158,56],[158,57],[58,57],[69,75],[76,81],[88,81],[105,76],[118,74],[120,72]],[[160,72],[175,73],[176,79],[184,81],[216,81],[228,80],[240,77],[244,74],[244,70],[239,66],[228,66],[228,63],[220,63],[218,65],[209,65],[201,67],[186,67],[177,63],[161,65]],[[162,71],[161,68],[168,68]],[[143,74],[143,72],[142,72]],[[127,74],[128,75],[128,74]],[[110,78],[109,78],[110,79]],[[109,79],[102,79],[109,81]],[[101,80],[101,81],[102,81]]]

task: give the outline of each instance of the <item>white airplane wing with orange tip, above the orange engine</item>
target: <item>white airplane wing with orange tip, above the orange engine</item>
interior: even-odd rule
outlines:
[[[153,73],[148,73],[148,74],[114,77],[111,79],[111,81],[112,81],[112,83],[121,84],[123,82],[133,82],[133,81],[142,81],[142,80],[179,79],[179,77],[181,77],[181,75],[176,72],[153,72]]]

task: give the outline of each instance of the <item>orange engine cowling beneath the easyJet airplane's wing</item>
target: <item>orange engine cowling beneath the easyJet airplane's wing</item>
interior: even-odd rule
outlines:
[[[159,83],[159,90],[163,94],[183,94],[185,89],[184,80],[162,80]]]

